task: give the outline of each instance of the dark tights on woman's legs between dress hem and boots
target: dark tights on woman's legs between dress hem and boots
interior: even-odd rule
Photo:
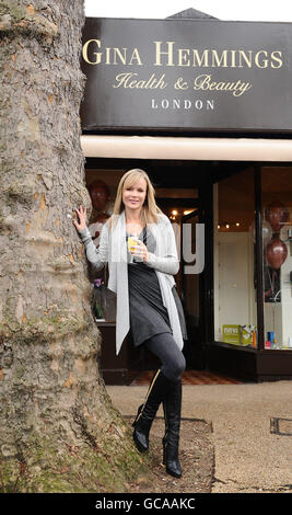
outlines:
[[[186,368],[186,359],[171,333],[155,334],[144,345],[161,360],[161,371],[167,379],[176,381]]]

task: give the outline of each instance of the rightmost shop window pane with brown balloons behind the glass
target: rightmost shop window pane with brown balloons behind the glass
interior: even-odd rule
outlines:
[[[292,351],[292,168],[261,169],[265,348]]]

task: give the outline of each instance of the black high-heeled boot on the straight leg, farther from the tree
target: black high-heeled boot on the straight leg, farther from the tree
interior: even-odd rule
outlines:
[[[182,467],[178,460],[178,444],[182,413],[182,379],[163,400],[163,411],[165,419],[165,435],[162,439],[163,464],[166,472],[175,478],[180,478]]]

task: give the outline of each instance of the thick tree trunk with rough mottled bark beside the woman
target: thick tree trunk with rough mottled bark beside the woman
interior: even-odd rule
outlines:
[[[97,369],[72,224],[82,0],[1,0],[0,491],[124,492],[141,457]]]

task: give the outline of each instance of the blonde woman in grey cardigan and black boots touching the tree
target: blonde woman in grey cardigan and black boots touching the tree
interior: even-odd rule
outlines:
[[[185,320],[173,275],[179,263],[173,228],[155,204],[148,174],[129,170],[121,178],[114,213],[105,224],[98,250],[86,227],[86,208],[75,209],[73,220],[87,260],[101,270],[108,263],[108,288],[117,294],[116,352],[131,330],[135,345],[145,345],[161,360],[145,402],[133,422],[133,440],[140,451],[149,448],[149,433],[163,402],[164,464],[179,478],[178,442],[182,408],[182,373],[185,357]],[[138,238],[127,245],[129,237]],[[130,242],[130,241],[129,241]]]

